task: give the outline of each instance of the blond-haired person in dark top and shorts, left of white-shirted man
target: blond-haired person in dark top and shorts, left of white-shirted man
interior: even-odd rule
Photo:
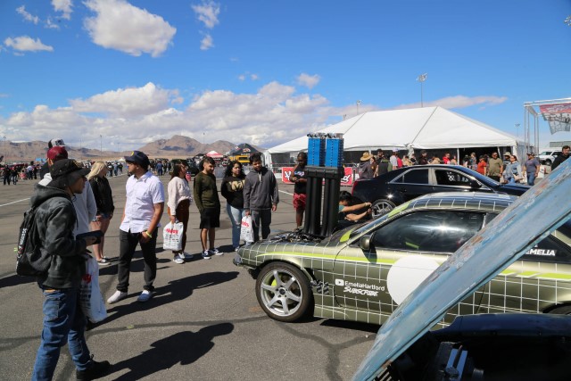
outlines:
[[[109,186],[109,181],[105,178],[106,174],[107,164],[105,162],[95,162],[87,175],[87,180],[89,180],[95,197],[95,204],[97,205],[97,213],[95,214],[95,219],[91,221],[91,229],[103,232],[101,243],[93,245],[95,259],[100,265],[109,264],[109,261],[103,255],[103,243],[105,241],[105,232],[109,228],[113,211],[115,211],[111,186]]]

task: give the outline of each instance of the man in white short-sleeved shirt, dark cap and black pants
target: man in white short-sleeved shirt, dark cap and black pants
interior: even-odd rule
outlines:
[[[127,200],[119,232],[119,283],[115,294],[107,299],[109,303],[127,297],[129,268],[137,244],[141,244],[145,261],[145,286],[138,302],[147,302],[153,297],[153,281],[157,274],[155,248],[164,209],[164,188],[161,180],[149,170],[150,162],[145,153],[133,151],[130,156],[125,156],[125,162],[131,176],[125,186]]]

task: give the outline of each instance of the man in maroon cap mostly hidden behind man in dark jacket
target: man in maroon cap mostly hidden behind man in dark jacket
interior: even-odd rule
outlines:
[[[66,149],[62,147],[62,145],[54,145],[52,148],[47,150],[46,164],[48,168],[52,168],[55,162],[59,162],[67,158],[68,152]],[[83,167],[83,164],[80,162],[79,165]],[[48,186],[52,180],[52,175],[48,172],[38,184]],[[93,195],[93,189],[91,188],[89,181],[86,181],[85,189],[83,189],[83,191],[78,195],[72,197],[71,200],[78,218],[78,223],[73,227],[73,234],[74,236],[77,236],[81,233],[87,233],[91,230],[89,223],[92,219],[95,219],[95,215],[97,214],[97,203],[95,203],[95,195]],[[109,264],[108,261],[98,262],[103,265]]]

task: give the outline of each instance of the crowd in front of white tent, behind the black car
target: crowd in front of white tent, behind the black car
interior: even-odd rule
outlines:
[[[409,155],[404,155],[401,158],[397,150],[385,153],[382,149],[378,149],[377,155],[368,152],[363,153],[358,166],[359,178],[375,178],[390,170],[412,165],[443,164],[462,165],[500,183],[525,183],[533,186],[541,169],[541,163],[533,152],[527,153],[527,158],[524,162],[519,162],[517,155],[509,152],[503,154],[503,160],[501,160],[497,152],[492,152],[490,155],[483,154],[479,157],[476,156],[476,153],[470,153],[465,155],[461,162],[458,162],[456,155],[451,155],[451,153],[444,153],[442,158],[439,158],[437,155],[433,155],[430,158],[424,150],[420,154],[417,160],[414,153],[410,157]],[[565,161],[568,156],[569,146],[566,145],[562,149],[562,154],[551,165],[551,170],[555,170],[560,162]]]

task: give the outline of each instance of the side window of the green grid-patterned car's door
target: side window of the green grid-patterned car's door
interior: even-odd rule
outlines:
[[[376,249],[454,253],[484,223],[484,213],[472,211],[417,211],[378,228]]]

